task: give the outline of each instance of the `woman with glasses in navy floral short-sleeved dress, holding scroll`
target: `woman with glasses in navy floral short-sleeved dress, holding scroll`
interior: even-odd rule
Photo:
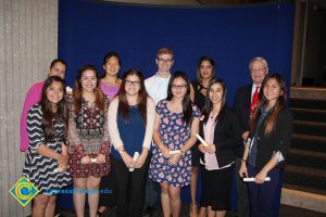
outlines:
[[[165,217],[179,216],[181,187],[191,182],[191,152],[200,111],[190,100],[190,82],[184,72],[172,75],[167,98],[156,105],[150,178],[161,186]]]

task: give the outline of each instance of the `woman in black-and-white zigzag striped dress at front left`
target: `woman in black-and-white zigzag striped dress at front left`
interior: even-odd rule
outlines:
[[[39,190],[33,216],[54,216],[57,193],[70,184],[67,168],[67,112],[62,78],[46,79],[40,101],[27,114],[28,152],[23,176]]]

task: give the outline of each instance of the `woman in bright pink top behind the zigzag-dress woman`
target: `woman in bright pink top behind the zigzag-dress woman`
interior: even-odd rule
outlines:
[[[55,59],[51,62],[50,71],[48,77],[50,76],[59,76],[62,79],[65,77],[66,72],[66,63],[63,60]],[[45,80],[35,84],[26,93],[24,107],[21,116],[21,151],[27,152],[28,150],[28,136],[27,136],[27,113],[29,108],[40,101],[42,87]]]

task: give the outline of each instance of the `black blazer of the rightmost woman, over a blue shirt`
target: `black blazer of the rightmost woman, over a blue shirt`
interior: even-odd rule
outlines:
[[[293,115],[288,108],[284,108],[278,113],[275,130],[269,136],[264,135],[265,120],[259,129],[255,125],[249,135],[252,138],[258,130],[255,158],[255,167],[258,169],[262,169],[267,164],[274,152],[280,151],[281,155],[286,158],[291,144]],[[284,165],[285,161],[277,164],[276,167],[281,168]]]

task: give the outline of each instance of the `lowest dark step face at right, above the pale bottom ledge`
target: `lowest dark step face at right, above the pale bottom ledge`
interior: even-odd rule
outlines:
[[[326,170],[286,165],[284,182],[287,184],[316,188],[326,191]]]

